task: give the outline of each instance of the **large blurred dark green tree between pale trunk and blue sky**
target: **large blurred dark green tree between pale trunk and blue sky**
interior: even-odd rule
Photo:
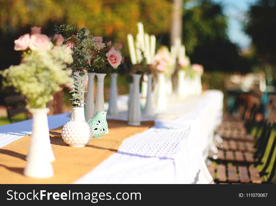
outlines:
[[[196,2],[183,10],[183,43],[191,62],[207,71],[249,71],[248,61],[228,39],[222,6],[209,0]]]

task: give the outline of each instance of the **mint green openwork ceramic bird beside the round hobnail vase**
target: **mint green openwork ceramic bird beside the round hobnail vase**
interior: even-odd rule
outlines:
[[[106,112],[105,111],[98,111],[92,117],[88,124],[93,130],[93,137],[94,138],[102,138],[102,136],[105,134],[105,132],[108,129],[108,124],[106,121]]]

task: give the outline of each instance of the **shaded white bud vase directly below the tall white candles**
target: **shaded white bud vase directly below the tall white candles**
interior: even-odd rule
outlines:
[[[141,125],[141,106],[139,82],[141,74],[133,74],[133,89],[131,92],[130,107],[128,112],[128,124],[132,126]]]

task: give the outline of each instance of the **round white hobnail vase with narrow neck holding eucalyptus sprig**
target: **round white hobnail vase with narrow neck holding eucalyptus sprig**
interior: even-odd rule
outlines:
[[[84,108],[73,108],[74,119],[67,122],[61,131],[63,141],[71,147],[84,147],[92,137],[93,130],[84,119]]]

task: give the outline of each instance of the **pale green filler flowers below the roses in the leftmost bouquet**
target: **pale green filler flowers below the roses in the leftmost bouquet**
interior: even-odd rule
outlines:
[[[71,85],[72,70],[66,63],[73,62],[65,45],[46,51],[28,51],[23,62],[2,71],[3,86],[13,86],[29,100],[31,108],[45,108],[61,85]],[[65,63],[66,62],[66,63]]]

